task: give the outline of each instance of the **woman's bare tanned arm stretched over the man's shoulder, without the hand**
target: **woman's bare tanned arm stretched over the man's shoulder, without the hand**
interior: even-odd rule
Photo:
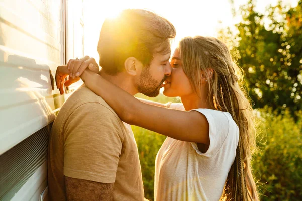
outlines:
[[[177,140],[209,145],[209,124],[201,113],[142,103],[89,70],[85,70],[80,77],[88,88],[106,101],[122,121]]]

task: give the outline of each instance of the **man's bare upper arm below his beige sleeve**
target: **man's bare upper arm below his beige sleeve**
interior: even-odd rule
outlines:
[[[114,183],[99,183],[65,176],[68,201],[113,200]]]

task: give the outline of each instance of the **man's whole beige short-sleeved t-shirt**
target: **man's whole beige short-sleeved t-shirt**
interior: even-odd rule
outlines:
[[[144,199],[130,125],[85,86],[67,99],[52,126],[48,149],[50,200],[66,200],[64,176],[114,183],[114,200]]]

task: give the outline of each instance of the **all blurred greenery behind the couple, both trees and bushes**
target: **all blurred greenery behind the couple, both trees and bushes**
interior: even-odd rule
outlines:
[[[253,157],[261,200],[302,200],[302,1],[291,8],[280,1],[261,14],[248,1],[235,29],[219,38],[245,72],[246,88],[260,121]],[[148,98],[161,103],[179,98]],[[165,136],[133,126],[142,167],[145,197],[153,200],[154,163]]]

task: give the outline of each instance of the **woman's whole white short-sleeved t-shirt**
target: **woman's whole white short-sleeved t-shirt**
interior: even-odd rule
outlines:
[[[184,110],[182,104],[170,108]],[[155,162],[155,200],[219,200],[222,195],[236,156],[239,128],[228,112],[195,110],[208,120],[209,149],[202,153],[197,143],[167,137]]]

